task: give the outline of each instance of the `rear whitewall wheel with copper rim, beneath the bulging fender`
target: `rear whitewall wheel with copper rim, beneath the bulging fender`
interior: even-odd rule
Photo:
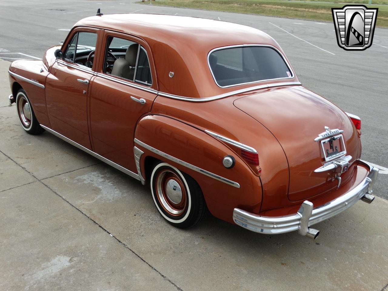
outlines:
[[[189,228],[208,215],[197,182],[174,166],[161,161],[155,163],[150,186],[156,208],[170,224]]]

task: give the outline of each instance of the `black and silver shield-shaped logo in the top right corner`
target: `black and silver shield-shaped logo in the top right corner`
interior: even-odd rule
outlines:
[[[345,5],[332,8],[337,42],[344,50],[365,50],[372,45],[378,8]]]

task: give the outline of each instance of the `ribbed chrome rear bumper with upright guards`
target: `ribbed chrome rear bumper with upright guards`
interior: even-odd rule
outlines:
[[[369,169],[369,174],[360,184],[342,196],[314,208],[313,203],[304,201],[297,213],[292,215],[265,217],[248,211],[234,208],[233,221],[246,229],[263,234],[282,234],[298,230],[298,233],[315,239],[319,231],[311,229],[309,226],[326,220],[342,211],[348,209],[359,199],[371,203],[374,196],[371,195],[372,187],[378,176],[378,169],[371,165],[359,161],[359,164]],[[315,231],[315,232],[314,232]]]

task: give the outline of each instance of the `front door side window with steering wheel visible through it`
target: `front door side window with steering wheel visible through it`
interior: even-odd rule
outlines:
[[[90,57],[89,55],[95,51],[96,43],[97,33],[86,31],[78,32],[73,36],[73,39],[68,45],[64,59],[87,68],[92,68],[94,54]]]

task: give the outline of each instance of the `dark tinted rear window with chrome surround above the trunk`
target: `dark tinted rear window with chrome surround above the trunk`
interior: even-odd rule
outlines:
[[[283,57],[271,47],[233,47],[209,55],[214,80],[230,87],[264,80],[293,78]]]

